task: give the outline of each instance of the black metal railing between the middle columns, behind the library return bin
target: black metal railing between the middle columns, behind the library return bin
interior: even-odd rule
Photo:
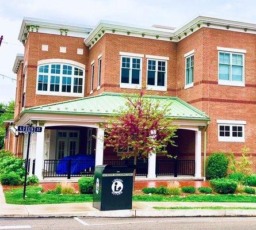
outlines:
[[[133,165],[134,160],[125,159],[125,160],[117,160],[117,159],[104,159],[104,164],[111,165]],[[147,176],[148,173],[148,160],[147,159],[137,159],[136,163],[136,176]]]

